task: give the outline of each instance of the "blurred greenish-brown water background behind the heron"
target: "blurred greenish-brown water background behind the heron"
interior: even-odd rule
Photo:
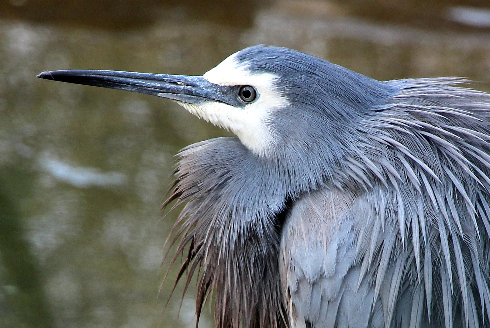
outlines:
[[[194,327],[193,290],[179,318],[180,285],[163,313],[175,213],[159,209],[173,155],[226,135],[168,100],[36,74],[202,74],[262,43],[381,80],[457,75],[490,90],[487,0],[4,0],[0,327]],[[200,326],[214,326],[208,308]]]

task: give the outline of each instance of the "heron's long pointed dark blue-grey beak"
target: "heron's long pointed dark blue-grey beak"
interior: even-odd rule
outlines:
[[[124,72],[116,70],[53,70],[37,77],[76,84],[151,94],[197,104],[202,101],[229,103],[222,86],[202,76]]]

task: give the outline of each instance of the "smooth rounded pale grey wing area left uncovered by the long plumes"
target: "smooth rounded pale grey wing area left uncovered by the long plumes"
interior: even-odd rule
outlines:
[[[353,220],[346,216],[351,203],[340,192],[317,192],[300,200],[285,224],[281,272],[293,323],[369,327],[374,293],[368,280],[358,283]]]

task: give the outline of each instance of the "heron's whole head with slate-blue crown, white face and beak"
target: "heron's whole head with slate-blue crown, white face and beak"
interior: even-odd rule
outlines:
[[[285,143],[341,138],[390,92],[383,82],[318,57],[269,46],[238,51],[202,76],[58,70],[38,77],[172,99],[266,157]]]

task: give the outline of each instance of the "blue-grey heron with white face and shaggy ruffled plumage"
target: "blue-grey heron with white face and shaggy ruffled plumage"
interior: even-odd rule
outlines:
[[[284,47],[201,76],[44,79],[171,99],[231,131],[178,153],[163,208],[218,328],[490,327],[490,94],[378,81]],[[174,286],[175,288],[175,286]],[[197,325],[197,324],[196,324]]]

